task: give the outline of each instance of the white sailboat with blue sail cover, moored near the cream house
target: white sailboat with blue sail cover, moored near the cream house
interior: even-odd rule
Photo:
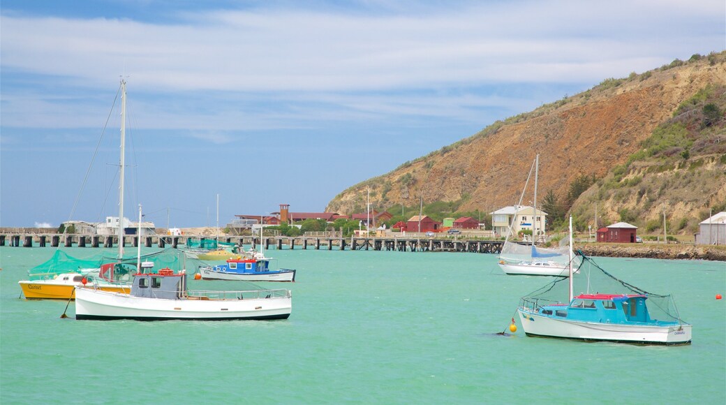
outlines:
[[[526,184],[529,184],[532,170],[534,170],[534,208],[523,207],[521,203],[526,192]],[[502,252],[499,253],[499,267],[505,274],[510,275],[567,277],[570,267],[570,255],[572,253],[571,242],[560,247],[537,247],[536,244],[537,237],[539,236],[537,231],[538,218],[544,215],[542,211],[537,210],[538,176],[539,155],[534,158],[534,163],[529,171],[529,176],[527,177],[525,187],[519,199],[519,204],[514,207],[513,220],[510,222],[509,231],[502,246]],[[515,221],[520,218],[521,213],[526,213],[528,217],[531,215],[532,237],[529,245],[521,245],[510,240]],[[579,262],[579,258],[575,258],[574,261],[576,263]]]

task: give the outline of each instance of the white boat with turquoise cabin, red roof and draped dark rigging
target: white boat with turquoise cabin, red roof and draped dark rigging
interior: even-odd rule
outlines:
[[[579,272],[571,268],[567,279],[555,279],[521,298],[517,312],[527,336],[647,345],[691,342],[692,326],[680,318],[671,295],[630,285],[580,254]],[[564,297],[568,300],[563,303]]]

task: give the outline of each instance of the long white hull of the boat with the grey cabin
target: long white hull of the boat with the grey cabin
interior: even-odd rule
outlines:
[[[292,297],[243,300],[205,300],[134,297],[79,288],[76,291],[76,319],[171,319],[224,321],[233,319],[287,319],[292,312]]]

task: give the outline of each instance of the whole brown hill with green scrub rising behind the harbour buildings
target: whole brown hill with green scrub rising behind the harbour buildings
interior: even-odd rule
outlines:
[[[587,229],[597,210],[597,226],[658,232],[665,213],[669,234],[688,234],[709,209],[726,209],[725,112],[726,52],[696,54],[497,121],[346,189],[326,209],[362,212],[370,188],[373,206],[391,213],[420,197],[491,212],[518,201],[539,153],[538,204],[551,226],[571,212]]]

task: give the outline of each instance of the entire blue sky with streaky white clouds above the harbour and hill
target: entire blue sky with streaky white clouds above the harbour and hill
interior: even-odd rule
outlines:
[[[126,216],[187,227],[217,195],[221,225],[322,211],[494,120],[726,49],[723,0],[0,7],[0,226],[118,215],[121,75]]]

